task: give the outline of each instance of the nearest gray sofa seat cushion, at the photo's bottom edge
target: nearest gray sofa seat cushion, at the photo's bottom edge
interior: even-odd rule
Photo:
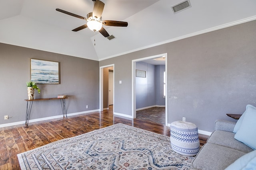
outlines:
[[[206,143],[196,155],[192,166],[198,170],[224,170],[245,152]]]

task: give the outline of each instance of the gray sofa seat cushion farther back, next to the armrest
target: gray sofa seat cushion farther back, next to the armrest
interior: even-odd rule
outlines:
[[[251,152],[253,149],[245,145],[244,143],[234,139],[235,133],[227,131],[214,131],[212,135],[207,140],[208,143],[221,145],[223,147],[228,147],[242,152]]]

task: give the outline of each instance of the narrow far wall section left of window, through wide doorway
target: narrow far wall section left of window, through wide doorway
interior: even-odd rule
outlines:
[[[165,106],[164,96],[164,71],[165,65],[157,65],[156,67],[156,105]]]

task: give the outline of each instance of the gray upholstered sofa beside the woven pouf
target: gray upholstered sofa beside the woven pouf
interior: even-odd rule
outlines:
[[[196,155],[190,170],[224,170],[244,154],[253,151],[234,139],[235,125],[235,122],[216,120],[215,131]]]

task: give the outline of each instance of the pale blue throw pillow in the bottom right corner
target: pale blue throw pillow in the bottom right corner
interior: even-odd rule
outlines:
[[[225,170],[256,170],[256,150],[238,158]]]

